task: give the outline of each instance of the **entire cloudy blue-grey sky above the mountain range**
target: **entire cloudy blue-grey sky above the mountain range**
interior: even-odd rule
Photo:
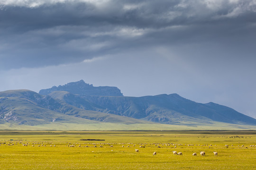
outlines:
[[[83,79],[256,118],[256,0],[0,0],[0,91]]]

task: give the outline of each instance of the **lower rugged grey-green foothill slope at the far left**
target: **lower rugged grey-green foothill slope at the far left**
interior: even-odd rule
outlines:
[[[34,102],[18,97],[0,98],[0,119],[1,123],[30,126],[50,122],[85,123],[87,121],[42,108]]]

